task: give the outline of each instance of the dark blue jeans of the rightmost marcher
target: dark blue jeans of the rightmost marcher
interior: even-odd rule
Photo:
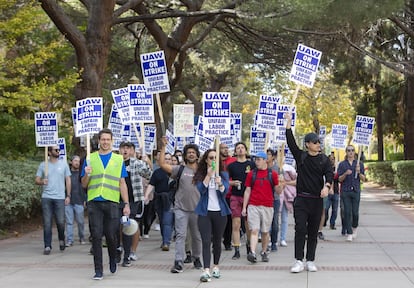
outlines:
[[[353,234],[352,228],[358,227],[361,192],[343,191],[341,196],[344,204],[345,232],[346,234],[351,235]]]

